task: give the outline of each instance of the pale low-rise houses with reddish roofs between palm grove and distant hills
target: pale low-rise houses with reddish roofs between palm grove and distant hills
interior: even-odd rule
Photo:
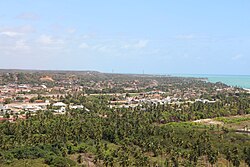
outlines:
[[[45,80],[50,78],[45,77]],[[224,92],[236,94],[238,89],[233,87],[203,87],[195,84],[190,84],[189,87],[181,86],[181,83],[164,83],[162,87],[167,88],[166,92],[158,90],[158,81],[152,79],[149,82],[142,80],[129,81],[114,81],[114,80],[100,80],[88,81],[82,84],[72,84],[72,81],[62,80],[56,82],[55,86],[48,86],[45,83],[41,84],[13,84],[0,86],[0,120],[14,119],[13,115],[18,113],[19,117],[25,119],[27,111],[35,113],[41,110],[51,110],[54,113],[63,114],[67,109],[84,109],[89,111],[83,105],[70,104],[67,105],[61,101],[60,97],[66,94],[83,93],[85,90],[103,90],[106,88],[122,88],[125,92],[139,92],[133,96],[127,96],[131,93],[117,93],[112,95],[109,101],[109,106],[113,107],[137,107],[142,104],[180,104],[184,102],[201,102],[201,103],[215,103],[216,99],[201,98],[203,94],[216,96]],[[183,83],[182,83],[183,84]],[[184,83],[185,84],[185,83]],[[158,88],[157,88],[158,87]],[[150,88],[150,89],[148,89]],[[145,90],[153,90],[144,92]],[[249,90],[248,90],[249,91]],[[41,94],[44,99],[37,98]],[[108,93],[107,93],[108,94]],[[6,113],[12,113],[10,118],[3,118]]]

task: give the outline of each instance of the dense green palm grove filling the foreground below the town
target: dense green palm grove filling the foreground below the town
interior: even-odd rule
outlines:
[[[27,114],[25,121],[0,124],[2,164],[42,158],[51,166],[76,166],[91,154],[99,166],[201,166],[216,164],[221,158],[234,166],[250,165],[249,136],[219,126],[180,122],[247,114],[249,101],[243,97],[215,104],[129,109],[110,109],[108,97],[103,96],[66,98],[78,99],[91,111],[39,112]],[[69,159],[75,154],[77,162]]]

